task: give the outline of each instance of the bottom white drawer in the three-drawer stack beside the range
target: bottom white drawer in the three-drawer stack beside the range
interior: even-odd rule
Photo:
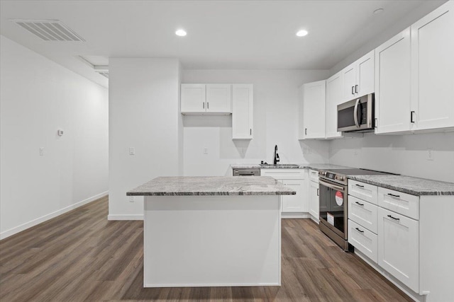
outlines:
[[[348,219],[348,243],[373,262],[378,261],[378,237],[355,221]]]

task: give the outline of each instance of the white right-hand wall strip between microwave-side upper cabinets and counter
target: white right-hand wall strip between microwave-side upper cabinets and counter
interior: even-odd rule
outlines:
[[[433,161],[427,160],[428,148],[433,149]],[[330,163],[454,182],[454,132],[365,134],[332,141],[330,149]]]

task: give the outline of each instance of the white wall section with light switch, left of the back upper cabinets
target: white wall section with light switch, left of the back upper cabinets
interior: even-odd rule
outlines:
[[[177,59],[109,58],[109,219],[143,219],[128,190],[182,173]],[[129,148],[135,155],[129,155]]]

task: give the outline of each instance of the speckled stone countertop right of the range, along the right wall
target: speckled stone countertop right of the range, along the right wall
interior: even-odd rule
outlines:
[[[405,175],[349,175],[347,178],[412,195],[454,195],[453,182],[413,178]]]

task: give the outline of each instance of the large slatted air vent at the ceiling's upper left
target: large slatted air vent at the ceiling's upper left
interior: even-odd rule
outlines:
[[[10,20],[45,41],[82,41],[84,38],[59,20]]]

